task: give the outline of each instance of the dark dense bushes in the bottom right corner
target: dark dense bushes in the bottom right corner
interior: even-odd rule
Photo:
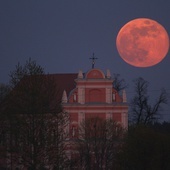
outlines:
[[[170,169],[170,136],[152,127],[130,127],[119,155],[122,170],[168,170]]]

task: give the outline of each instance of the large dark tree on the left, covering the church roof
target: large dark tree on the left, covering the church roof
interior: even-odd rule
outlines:
[[[68,115],[57,82],[29,59],[11,72],[13,88],[6,104],[10,167],[62,169],[66,165]]]

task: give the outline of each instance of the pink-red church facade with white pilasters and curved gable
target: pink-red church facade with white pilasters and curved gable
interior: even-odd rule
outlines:
[[[128,105],[125,91],[122,96],[113,88],[113,79],[99,69],[86,74],[81,71],[75,79],[75,88],[63,93],[63,108],[70,115],[70,128],[74,131],[81,121],[90,117],[111,118],[124,128],[128,126]],[[74,132],[72,132],[74,133]]]

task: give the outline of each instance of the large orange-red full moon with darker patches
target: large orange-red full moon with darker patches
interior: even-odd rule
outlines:
[[[150,67],[161,62],[169,50],[169,36],[158,22],[148,18],[125,24],[116,38],[121,58],[135,67]]]

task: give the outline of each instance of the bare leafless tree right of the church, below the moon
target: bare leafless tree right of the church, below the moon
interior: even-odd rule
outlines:
[[[154,104],[149,104],[148,82],[139,77],[135,81],[135,96],[131,101],[131,117],[135,124],[148,124],[157,120],[162,104],[167,103],[167,93],[163,89]]]

